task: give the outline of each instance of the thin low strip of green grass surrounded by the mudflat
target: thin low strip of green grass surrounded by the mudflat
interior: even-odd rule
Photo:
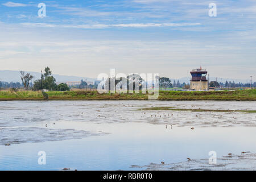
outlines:
[[[256,110],[221,110],[221,109],[175,109],[174,107],[148,107],[138,110],[175,110],[175,111],[192,111],[192,112],[245,112],[256,113]]]

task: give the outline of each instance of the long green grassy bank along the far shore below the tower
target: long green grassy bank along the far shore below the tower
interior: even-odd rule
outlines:
[[[148,94],[99,94],[97,91],[49,91],[46,92],[49,100],[147,100]],[[10,100],[44,100],[40,91],[1,91],[0,101]],[[256,101],[256,89],[235,91],[210,91],[210,92],[188,92],[188,91],[159,91],[158,100],[234,100],[234,101]]]

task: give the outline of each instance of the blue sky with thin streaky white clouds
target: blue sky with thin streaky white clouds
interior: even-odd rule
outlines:
[[[255,22],[255,0],[1,0],[0,70],[181,78],[202,65],[210,76],[256,80]]]

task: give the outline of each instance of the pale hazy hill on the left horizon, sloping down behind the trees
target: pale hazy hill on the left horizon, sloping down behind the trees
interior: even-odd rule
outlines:
[[[30,73],[31,75],[34,76],[34,80],[38,80],[41,78],[41,73],[40,72],[29,72],[25,71],[26,73]],[[56,78],[57,82],[61,81],[80,81],[80,80],[85,80],[87,81],[94,81],[96,78],[88,78],[88,77],[79,77],[79,76],[66,76],[66,75],[55,75],[52,74],[53,77]],[[19,71],[10,71],[10,70],[4,70],[0,71],[0,81],[7,81],[7,82],[21,82],[20,80],[20,73]]]

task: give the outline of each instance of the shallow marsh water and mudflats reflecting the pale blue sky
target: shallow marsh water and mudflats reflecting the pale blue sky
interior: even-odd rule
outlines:
[[[230,111],[140,110],[156,106]],[[256,114],[233,110],[256,110],[256,102],[0,102],[0,169],[255,170]]]

